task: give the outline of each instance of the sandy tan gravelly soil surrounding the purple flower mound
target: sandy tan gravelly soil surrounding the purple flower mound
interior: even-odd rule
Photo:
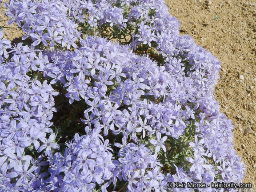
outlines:
[[[222,65],[215,98],[234,125],[234,147],[247,168],[244,183],[256,192],[256,0],[166,0],[180,20],[180,34],[216,56]],[[2,3],[3,5],[3,3]],[[0,8],[3,12],[4,8]],[[0,14],[0,26],[8,17]],[[7,25],[6,25],[7,26]],[[16,25],[4,38],[21,36]]]

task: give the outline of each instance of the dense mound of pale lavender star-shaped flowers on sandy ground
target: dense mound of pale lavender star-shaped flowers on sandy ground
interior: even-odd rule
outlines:
[[[0,32],[0,191],[236,191],[167,188],[240,183],[245,168],[213,98],[220,62],[164,1],[5,6],[25,35]]]

